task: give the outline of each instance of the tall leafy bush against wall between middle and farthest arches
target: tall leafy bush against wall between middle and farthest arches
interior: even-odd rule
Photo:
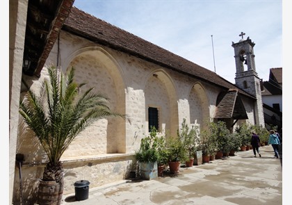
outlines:
[[[192,126],[190,129],[186,124],[186,119],[181,123],[181,129],[177,130],[177,137],[181,139],[184,144],[184,149],[188,152],[188,158],[195,156],[195,145],[199,138],[198,127]]]

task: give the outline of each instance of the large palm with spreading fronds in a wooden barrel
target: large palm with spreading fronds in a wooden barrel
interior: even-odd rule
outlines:
[[[63,195],[63,165],[60,157],[70,143],[92,122],[106,117],[120,116],[108,108],[108,99],[93,93],[93,88],[80,92],[84,83],[74,82],[74,67],[67,77],[56,67],[48,68],[49,79],[44,79],[40,92],[30,88],[19,105],[24,118],[49,159],[39,184],[38,201],[49,197],[49,204],[60,204]],[[47,186],[54,183],[55,192]],[[45,193],[47,191],[47,193]],[[44,198],[46,198],[44,197]],[[46,199],[47,199],[46,198]]]

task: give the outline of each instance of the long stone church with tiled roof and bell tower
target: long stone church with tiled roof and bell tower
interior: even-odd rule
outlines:
[[[131,124],[120,119],[99,120],[72,142],[61,158],[65,169],[64,194],[73,193],[74,182],[81,179],[90,181],[90,188],[125,179],[133,152],[140,139],[148,135],[150,125],[170,136],[177,134],[184,119],[201,129],[204,123],[218,120],[224,120],[230,131],[243,123],[264,126],[254,42],[241,33],[241,39],[232,42],[232,47],[236,85],[72,7],[44,65],[25,70],[22,79],[31,89],[38,90],[50,65],[63,72],[74,67],[76,81],[88,83],[88,88],[95,87],[106,95],[111,109],[129,116]],[[21,85],[20,99],[26,91]],[[15,153],[24,154],[23,197],[29,201],[47,158],[35,138],[24,131],[22,120],[15,147]],[[13,201],[19,202],[17,166],[13,177]]]

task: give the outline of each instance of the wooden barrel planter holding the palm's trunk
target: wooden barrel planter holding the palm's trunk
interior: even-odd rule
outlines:
[[[38,204],[59,205],[63,197],[63,183],[40,181],[38,186]]]

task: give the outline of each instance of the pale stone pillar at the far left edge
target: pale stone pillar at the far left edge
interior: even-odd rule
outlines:
[[[9,203],[13,200],[19,96],[28,0],[9,1]]]

